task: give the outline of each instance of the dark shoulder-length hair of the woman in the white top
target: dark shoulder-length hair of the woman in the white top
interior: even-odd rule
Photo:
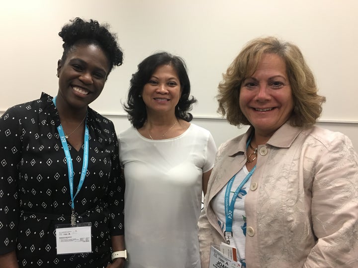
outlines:
[[[186,65],[182,58],[168,52],[158,52],[145,58],[139,65],[138,71],[132,75],[128,91],[127,103],[124,110],[128,113],[128,119],[132,126],[140,129],[147,120],[146,105],[140,95],[144,85],[148,83],[155,70],[162,65],[171,65],[176,70],[180,81],[181,96],[175,108],[177,118],[190,122],[192,115],[188,112],[196,99],[190,97],[190,81],[186,72]]]

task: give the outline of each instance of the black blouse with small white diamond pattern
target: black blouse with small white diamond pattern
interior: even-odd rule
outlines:
[[[110,262],[111,235],[123,235],[124,183],[113,123],[88,108],[89,165],[75,198],[78,221],[92,224],[90,254],[56,255],[55,224],[70,223],[68,167],[52,97],[0,117],[0,254],[16,249],[20,267],[95,268]],[[68,144],[79,184],[84,148]]]

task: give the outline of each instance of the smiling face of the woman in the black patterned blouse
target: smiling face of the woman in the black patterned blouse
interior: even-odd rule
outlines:
[[[102,92],[109,72],[109,61],[94,44],[78,44],[59,60],[59,99],[69,108],[84,108]]]

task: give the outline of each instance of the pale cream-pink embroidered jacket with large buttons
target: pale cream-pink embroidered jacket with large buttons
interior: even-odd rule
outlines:
[[[218,149],[199,218],[202,268],[210,243],[225,241],[211,202],[244,166],[251,132]],[[351,140],[284,124],[259,146],[245,210],[247,268],[358,268],[358,156]]]

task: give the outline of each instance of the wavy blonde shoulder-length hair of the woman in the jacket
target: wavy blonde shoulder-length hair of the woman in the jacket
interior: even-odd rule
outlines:
[[[244,80],[255,73],[265,53],[277,54],[286,64],[294,103],[290,124],[297,127],[314,125],[322,113],[322,104],[326,98],[317,94],[314,75],[300,49],[273,36],[249,41],[230,64],[218,86],[218,112],[222,116],[226,115],[231,125],[251,125],[240,109],[240,88]]]

